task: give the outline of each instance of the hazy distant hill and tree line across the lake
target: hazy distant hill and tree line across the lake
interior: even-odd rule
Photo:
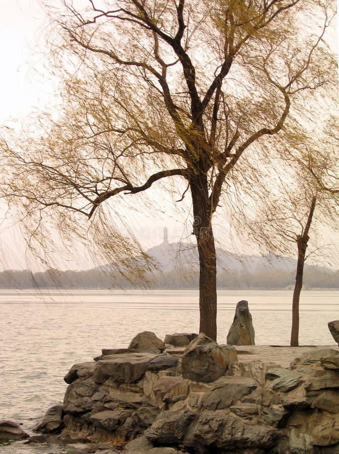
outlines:
[[[238,255],[221,248],[217,253],[217,285],[224,289],[289,289],[295,283],[297,261],[289,257]],[[140,255],[121,263],[110,263],[90,270],[49,269],[0,272],[0,288],[108,289],[142,288],[147,282],[155,289],[197,289],[199,259],[196,245],[168,243],[166,240],[146,251],[151,262]],[[143,271],[143,273],[141,272]],[[142,275],[143,274],[143,275]],[[304,288],[339,288],[339,270],[306,265]]]

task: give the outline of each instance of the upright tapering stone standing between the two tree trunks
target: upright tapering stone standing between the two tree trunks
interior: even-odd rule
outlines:
[[[227,334],[228,345],[255,345],[252,315],[248,301],[239,301],[235,308],[235,316]]]

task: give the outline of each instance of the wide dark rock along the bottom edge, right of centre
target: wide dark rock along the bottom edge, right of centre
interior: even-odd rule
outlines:
[[[245,424],[237,416],[223,412],[203,411],[193,432],[193,443],[211,447],[211,452],[246,447],[269,448],[278,432],[269,427]]]

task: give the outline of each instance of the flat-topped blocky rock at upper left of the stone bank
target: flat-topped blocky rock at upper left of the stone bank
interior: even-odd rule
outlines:
[[[93,378],[96,383],[111,379],[117,383],[133,383],[147,371],[154,355],[147,353],[129,353],[109,355],[95,363]]]

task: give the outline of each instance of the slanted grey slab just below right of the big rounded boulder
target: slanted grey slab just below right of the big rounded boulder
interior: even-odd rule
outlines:
[[[202,397],[205,410],[222,410],[234,405],[245,395],[251,394],[258,386],[253,378],[221,377]]]

